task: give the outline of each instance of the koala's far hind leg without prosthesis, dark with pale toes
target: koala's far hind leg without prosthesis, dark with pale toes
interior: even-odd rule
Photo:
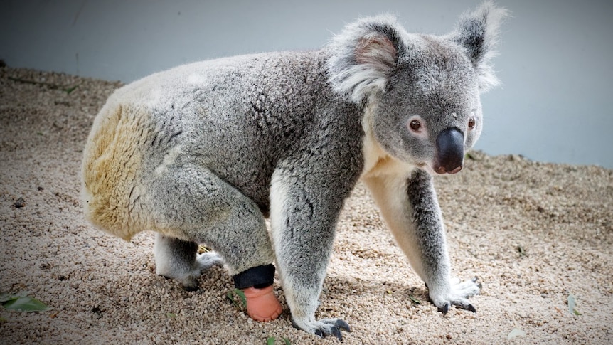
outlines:
[[[187,290],[198,287],[201,272],[213,265],[223,264],[215,252],[198,254],[198,243],[156,234],[154,245],[156,274],[181,282]]]

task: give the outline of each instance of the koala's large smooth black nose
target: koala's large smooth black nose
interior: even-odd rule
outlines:
[[[464,164],[464,134],[455,128],[447,128],[437,137],[437,158],[434,169],[439,174],[455,174]]]

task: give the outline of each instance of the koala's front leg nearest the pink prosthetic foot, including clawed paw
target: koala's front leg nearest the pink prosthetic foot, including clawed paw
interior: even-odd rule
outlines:
[[[277,270],[294,327],[342,339],[350,331],[341,319],[315,319],[326,276],[336,218],[346,191],[334,181],[297,169],[277,169],[272,177],[270,220]]]

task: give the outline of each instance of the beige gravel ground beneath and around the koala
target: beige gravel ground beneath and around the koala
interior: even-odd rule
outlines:
[[[339,344],[292,328],[278,282],[284,313],[253,322],[226,298],[233,285],[223,268],[186,292],[154,274],[153,234],[127,243],[85,222],[81,151],[119,85],[0,68],[0,292],[53,307],[0,308],[0,342]],[[344,344],[612,344],[613,171],[471,152],[460,174],[436,184],[454,275],[484,286],[471,299],[477,313],[443,317],[427,302],[359,185],[317,312],[351,325]],[[579,315],[568,310],[570,294]],[[509,341],[513,329],[525,335]]]

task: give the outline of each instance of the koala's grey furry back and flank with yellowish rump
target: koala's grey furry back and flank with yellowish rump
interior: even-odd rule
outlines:
[[[126,239],[154,230],[146,189],[174,164],[213,171],[267,212],[277,161],[312,144],[305,138],[325,93],[318,54],[193,63],[114,92],[85,147],[86,218]]]

